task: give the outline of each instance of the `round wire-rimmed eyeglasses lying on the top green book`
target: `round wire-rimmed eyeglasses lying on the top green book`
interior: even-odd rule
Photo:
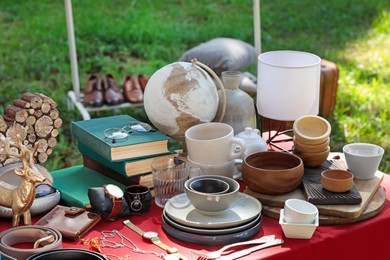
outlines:
[[[131,133],[154,132],[155,130],[147,123],[132,121],[126,126],[112,127],[104,130],[104,137],[111,140],[112,143],[125,140]]]

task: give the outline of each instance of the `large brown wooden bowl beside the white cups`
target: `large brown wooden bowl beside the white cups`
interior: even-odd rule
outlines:
[[[282,194],[302,183],[303,162],[290,153],[259,152],[244,159],[241,174],[248,188],[255,192]]]

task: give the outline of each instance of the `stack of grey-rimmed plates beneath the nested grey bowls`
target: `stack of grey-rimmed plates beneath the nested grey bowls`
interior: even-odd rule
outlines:
[[[162,227],[168,234],[191,243],[234,243],[257,234],[262,222],[261,209],[257,199],[238,193],[229,209],[218,215],[204,215],[182,193],[165,205]]]

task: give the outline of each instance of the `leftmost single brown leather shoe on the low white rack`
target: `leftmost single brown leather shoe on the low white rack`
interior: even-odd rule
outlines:
[[[91,75],[84,89],[83,103],[86,106],[100,107],[103,105],[103,89],[101,80],[96,75]]]

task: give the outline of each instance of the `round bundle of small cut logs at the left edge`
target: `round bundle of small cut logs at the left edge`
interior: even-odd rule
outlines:
[[[28,147],[38,143],[35,161],[44,163],[57,145],[58,128],[62,124],[57,103],[52,98],[43,93],[26,92],[4,108],[4,115],[0,115],[0,137],[10,137],[16,142],[16,134],[19,134]],[[0,166],[16,161],[19,159],[0,154]]]

